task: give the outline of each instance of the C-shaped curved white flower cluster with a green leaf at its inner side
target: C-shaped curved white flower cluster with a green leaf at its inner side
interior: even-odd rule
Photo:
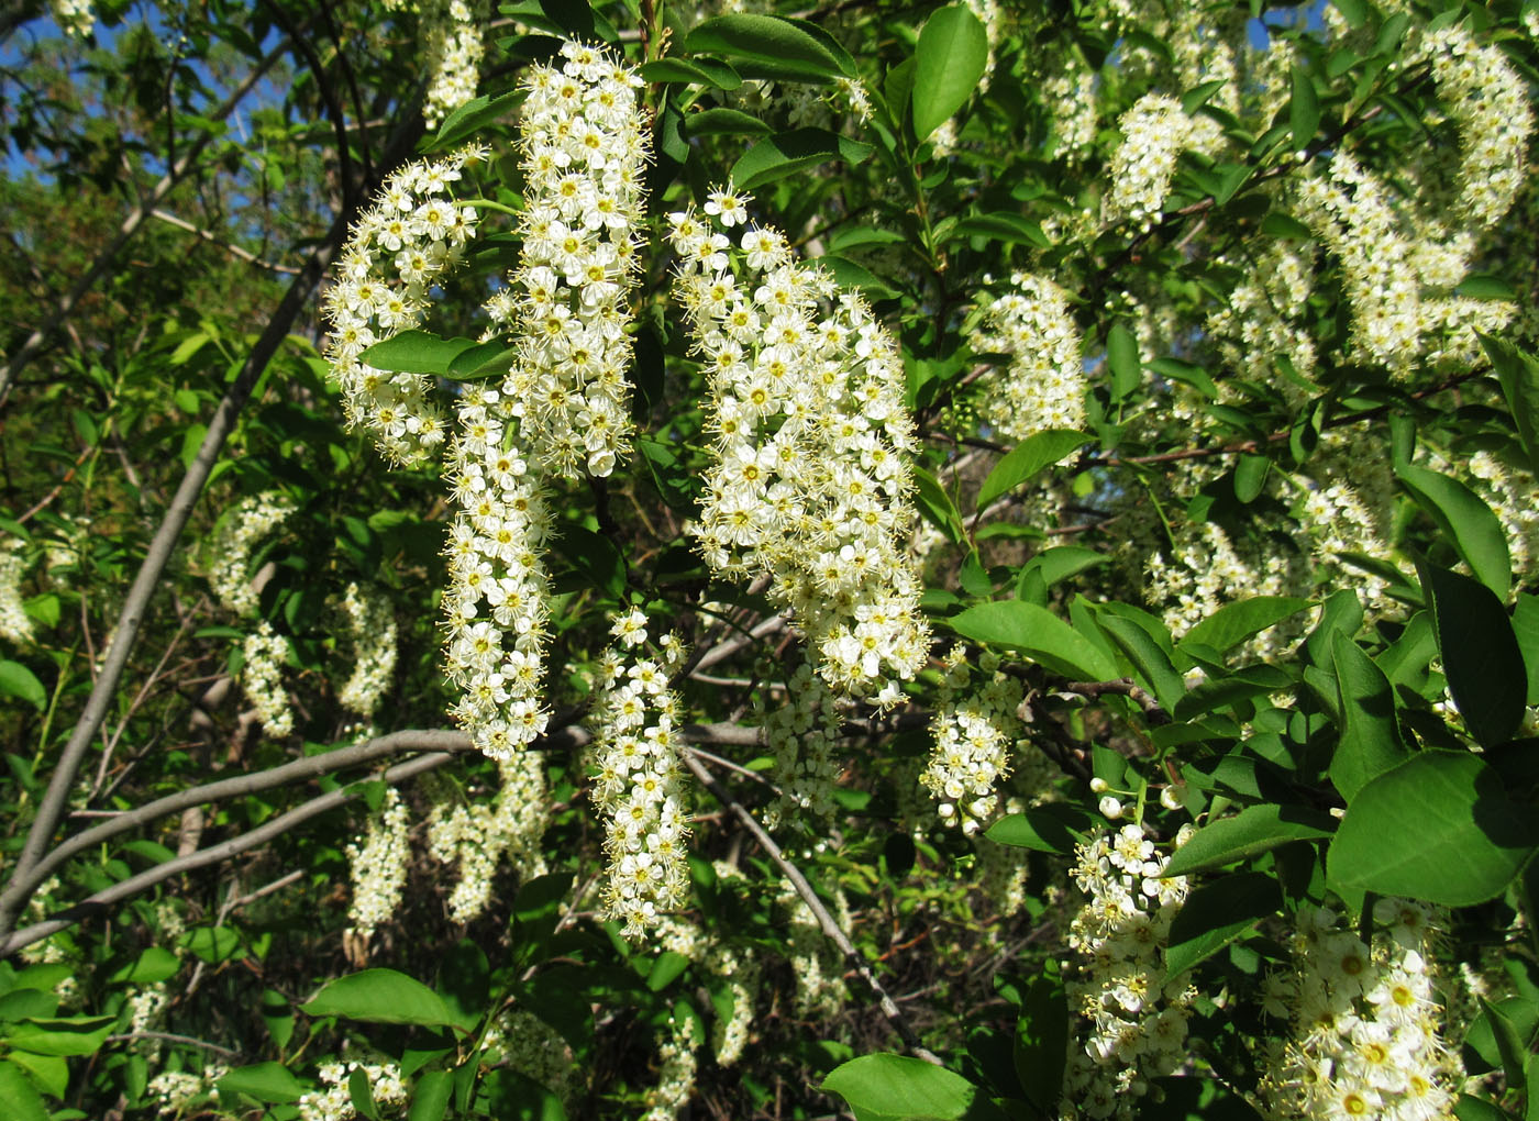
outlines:
[[[479,149],[466,148],[406,165],[385,180],[352,228],[339,278],[326,292],[326,358],[342,386],[348,423],[368,429],[400,463],[420,463],[443,443],[443,414],[428,398],[432,384],[422,374],[374,369],[359,355],[417,328],[428,311],[428,289],[465,255],[476,212],[456,206],[449,189],[479,158]]]

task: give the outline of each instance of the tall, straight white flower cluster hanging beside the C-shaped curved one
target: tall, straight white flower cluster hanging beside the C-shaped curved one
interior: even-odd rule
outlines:
[[[634,68],[580,43],[563,43],[562,57],[523,81],[523,252],[486,311],[516,340],[503,392],[526,447],[549,471],[602,477],[629,452],[626,326],[648,134]]]

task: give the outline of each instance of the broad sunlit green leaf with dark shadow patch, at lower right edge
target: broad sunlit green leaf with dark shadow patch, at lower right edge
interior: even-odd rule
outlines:
[[[1491,767],[1430,750],[1357,792],[1327,869],[1347,887],[1465,907],[1501,895],[1536,843],[1531,807]]]

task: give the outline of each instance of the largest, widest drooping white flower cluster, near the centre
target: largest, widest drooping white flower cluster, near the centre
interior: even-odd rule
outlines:
[[[696,543],[725,575],[773,577],[836,694],[893,703],[928,647],[900,547],[916,515],[896,343],[783,234],[746,225],[742,195],[709,206],[669,215],[717,437]]]

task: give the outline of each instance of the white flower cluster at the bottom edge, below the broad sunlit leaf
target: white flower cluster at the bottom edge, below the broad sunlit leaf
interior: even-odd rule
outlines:
[[[1427,963],[1434,915],[1385,898],[1373,916],[1370,946],[1325,907],[1299,912],[1294,970],[1268,978],[1267,1010],[1293,1026],[1260,1056],[1268,1118],[1453,1116],[1464,1072]]]

